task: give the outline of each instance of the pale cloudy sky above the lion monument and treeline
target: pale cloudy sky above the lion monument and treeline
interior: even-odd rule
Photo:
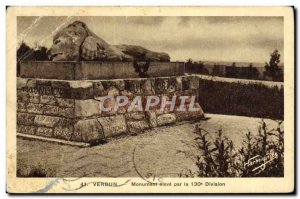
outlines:
[[[283,57],[283,17],[18,17],[18,41],[52,45],[53,35],[80,20],[109,44],[166,52],[171,61],[264,63],[275,49]]]

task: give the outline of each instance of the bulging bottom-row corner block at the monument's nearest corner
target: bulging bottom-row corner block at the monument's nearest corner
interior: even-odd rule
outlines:
[[[103,130],[97,119],[79,120],[74,125],[71,140],[95,142],[104,139]]]

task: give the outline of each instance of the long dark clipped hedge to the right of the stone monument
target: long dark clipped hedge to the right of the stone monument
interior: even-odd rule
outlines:
[[[204,112],[283,119],[283,88],[200,79],[200,105]]]

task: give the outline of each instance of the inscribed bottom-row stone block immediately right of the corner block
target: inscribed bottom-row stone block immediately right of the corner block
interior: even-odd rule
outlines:
[[[98,118],[105,137],[114,137],[127,131],[125,118],[123,115]]]

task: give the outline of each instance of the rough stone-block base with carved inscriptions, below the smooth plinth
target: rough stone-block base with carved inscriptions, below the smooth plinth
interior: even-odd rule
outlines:
[[[18,78],[17,133],[97,144],[110,137],[198,120],[204,116],[201,108],[196,112],[154,108],[130,113],[124,109],[103,112],[99,108],[102,96],[198,96],[198,88],[196,76],[115,80]]]

